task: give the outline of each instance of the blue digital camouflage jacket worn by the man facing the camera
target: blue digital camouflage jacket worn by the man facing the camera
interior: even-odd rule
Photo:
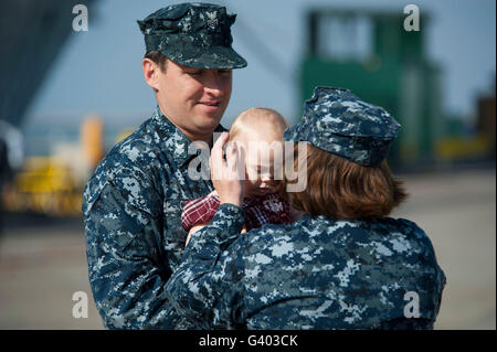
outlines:
[[[193,328],[182,324],[163,290],[187,239],[182,202],[213,190],[188,177],[197,157],[189,143],[157,108],[107,153],[85,188],[89,284],[108,329]]]

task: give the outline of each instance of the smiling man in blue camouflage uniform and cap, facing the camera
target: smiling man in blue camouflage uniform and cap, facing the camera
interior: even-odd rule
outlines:
[[[208,3],[170,6],[138,21],[158,107],[107,153],[83,195],[89,282],[108,329],[187,327],[163,286],[188,235],[182,201],[213,190],[209,179],[190,177],[190,145],[212,146],[213,132],[224,130],[232,68],[246,66],[231,47],[234,21]],[[161,55],[165,62],[150,58]]]

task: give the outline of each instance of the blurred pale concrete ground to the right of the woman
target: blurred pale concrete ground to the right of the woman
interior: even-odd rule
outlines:
[[[495,330],[495,170],[404,179],[412,195],[393,216],[426,232],[447,277],[435,328]]]

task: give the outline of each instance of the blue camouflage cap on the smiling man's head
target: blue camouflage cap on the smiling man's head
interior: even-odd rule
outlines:
[[[242,68],[246,61],[232,47],[236,15],[210,3],[179,3],[138,21],[147,52],[160,51],[173,62],[197,68]]]

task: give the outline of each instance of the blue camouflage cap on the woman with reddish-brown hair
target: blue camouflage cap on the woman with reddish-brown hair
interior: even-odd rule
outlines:
[[[302,121],[283,136],[362,166],[378,166],[400,127],[383,108],[362,102],[349,89],[316,87],[305,103]]]

